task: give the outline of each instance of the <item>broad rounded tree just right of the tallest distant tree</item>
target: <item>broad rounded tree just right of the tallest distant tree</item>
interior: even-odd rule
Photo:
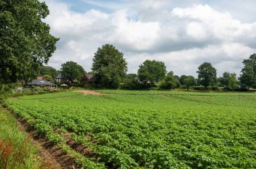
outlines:
[[[166,74],[164,62],[156,60],[146,60],[139,66],[137,71],[139,81],[148,87],[153,87],[156,82],[160,82]]]

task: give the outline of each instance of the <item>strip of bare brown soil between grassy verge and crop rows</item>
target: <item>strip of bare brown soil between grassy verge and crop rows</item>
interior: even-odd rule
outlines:
[[[0,105],[0,109],[3,109],[7,113],[11,113],[7,108],[4,108]],[[74,158],[70,158],[61,148],[58,148],[46,137],[40,137],[33,129],[33,127],[24,119],[17,117],[18,119],[18,127],[22,131],[26,131],[28,133],[28,137],[32,144],[38,150],[38,156],[40,156],[42,160],[42,166],[40,168],[80,168],[75,162]]]

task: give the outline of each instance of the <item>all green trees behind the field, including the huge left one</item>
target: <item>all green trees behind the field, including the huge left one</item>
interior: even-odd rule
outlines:
[[[61,65],[59,72],[47,64],[59,38],[50,34],[50,26],[42,21],[49,15],[49,9],[44,2],[0,1],[0,90],[5,84],[13,82],[29,82],[38,74],[48,80],[53,80],[58,73],[71,82],[81,78],[85,71],[79,64],[69,61]],[[191,86],[225,87],[235,89],[255,87],[256,54],[243,60],[241,75],[224,72],[216,77],[216,68],[205,62],[198,67],[197,78],[174,75],[166,72],[164,62],[145,60],[139,65],[137,74],[127,74],[127,61],[123,53],[111,44],[98,48],[94,54],[92,72],[96,77],[94,87],[117,89],[174,89]],[[79,80],[78,80],[79,81]],[[200,88],[201,88],[200,87]],[[197,87],[198,88],[198,87]]]

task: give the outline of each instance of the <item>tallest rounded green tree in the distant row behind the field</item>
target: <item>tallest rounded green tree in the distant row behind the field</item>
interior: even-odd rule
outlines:
[[[116,89],[125,78],[127,62],[115,46],[105,44],[94,53],[92,70],[98,86]]]

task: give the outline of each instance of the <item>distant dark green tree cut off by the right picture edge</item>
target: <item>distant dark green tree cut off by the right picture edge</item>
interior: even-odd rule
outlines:
[[[249,59],[243,60],[244,67],[241,70],[240,80],[248,89],[256,84],[256,54],[252,54]]]

